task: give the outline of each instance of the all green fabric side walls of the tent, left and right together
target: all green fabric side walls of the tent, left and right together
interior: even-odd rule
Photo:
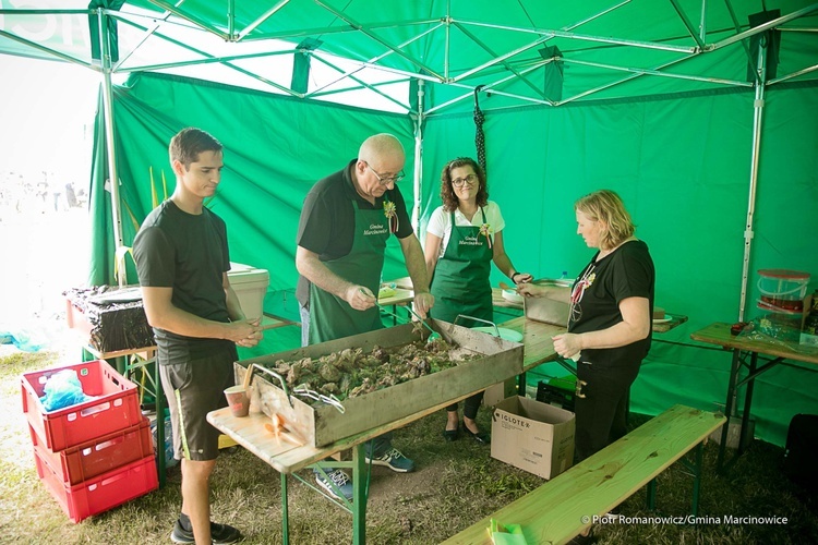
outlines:
[[[818,169],[810,152],[818,147],[818,124],[808,114],[817,111],[818,87],[777,87],[767,95],[751,279],[759,268],[818,270],[811,234],[818,232]],[[486,116],[491,197],[503,209],[506,246],[519,269],[539,277],[576,274],[591,251],[575,235],[573,203],[610,187],[623,196],[637,234],[651,247],[658,304],[690,317],[654,336],[673,343],[657,342],[646,361],[633,393],[637,411],[657,413],[670,402],[712,410],[724,402],[730,354],[690,347],[689,334],[737,318],[753,105],[751,93],[715,92]],[[116,88],[113,111],[125,243],[152,206],[148,167],[158,187],[165,170],[172,192],[167,143],[183,126],[201,126],[226,146],[224,187],[212,206],[228,223],[231,258],[268,269],[270,292],[296,284],[296,229],[310,186],[353,157],[364,137],[396,134],[408,152],[406,170],[413,171],[412,126],[405,116],[147,74]],[[473,136],[470,114],[426,120],[422,225],[440,203],[442,166],[473,156]],[[401,191],[411,198],[410,185]],[[95,203],[96,223],[104,225],[110,204]],[[95,252],[95,270],[104,269],[104,258]],[[385,278],[404,270],[393,245]],[[755,315],[758,293],[750,288],[747,307]],[[797,365],[762,375],[757,435],[783,444],[792,414],[816,411],[816,386],[818,375]]]

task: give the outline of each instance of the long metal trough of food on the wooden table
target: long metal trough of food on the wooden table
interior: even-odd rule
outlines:
[[[345,399],[340,402],[342,412],[333,404],[313,405],[309,399],[302,400],[293,392],[286,392],[286,386],[273,374],[261,372],[255,366],[275,368],[279,360],[289,362],[303,358],[318,359],[348,348],[361,348],[368,353],[376,346],[386,349],[400,347],[425,339],[430,331],[418,331],[412,324],[407,324],[242,360],[234,364],[236,380],[242,383],[246,370],[252,366],[251,411],[261,409],[269,416],[280,415],[306,444],[322,447],[448,403],[522,373],[522,344],[446,322],[430,319],[428,323],[446,341],[457,344],[458,353],[478,354],[479,358],[388,388]]]

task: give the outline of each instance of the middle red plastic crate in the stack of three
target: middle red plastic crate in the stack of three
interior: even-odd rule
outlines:
[[[32,426],[28,431],[39,459],[70,486],[154,455],[147,419],[128,429],[57,452],[43,444]]]

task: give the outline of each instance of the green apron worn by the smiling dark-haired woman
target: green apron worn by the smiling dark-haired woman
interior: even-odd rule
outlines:
[[[480,214],[485,223],[482,208]],[[492,288],[489,282],[492,255],[489,239],[480,233],[480,228],[455,225],[455,214],[452,213],[452,235],[432,278],[434,307],[430,314],[433,318],[454,322],[458,314],[464,314],[493,319]],[[471,327],[484,324],[461,318],[457,325]]]

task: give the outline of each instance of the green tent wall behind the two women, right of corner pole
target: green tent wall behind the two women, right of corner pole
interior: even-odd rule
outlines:
[[[592,251],[575,234],[573,204],[597,189],[613,189],[651,249],[657,304],[689,316],[687,324],[653,336],[631,395],[637,412],[657,414],[671,400],[723,408],[731,354],[694,348],[689,335],[712,322],[737,320],[753,106],[753,93],[727,92],[486,114],[490,195],[503,210],[504,242],[518,270],[575,276]],[[762,314],[755,307],[757,269],[818,271],[818,159],[810,152],[818,148],[818,123],[808,113],[817,108],[815,85],[767,95],[749,317]],[[470,114],[430,118],[423,179],[437,180],[454,157],[474,156],[473,134]],[[424,218],[440,205],[438,190],[440,182],[424,185]],[[493,275],[495,284],[503,280]],[[552,370],[565,374],[556,364]],[[816,392],[818,374],[798,365],[762,375],[756,382],[756,434],[783,445],[792,415],[818,409]]]

